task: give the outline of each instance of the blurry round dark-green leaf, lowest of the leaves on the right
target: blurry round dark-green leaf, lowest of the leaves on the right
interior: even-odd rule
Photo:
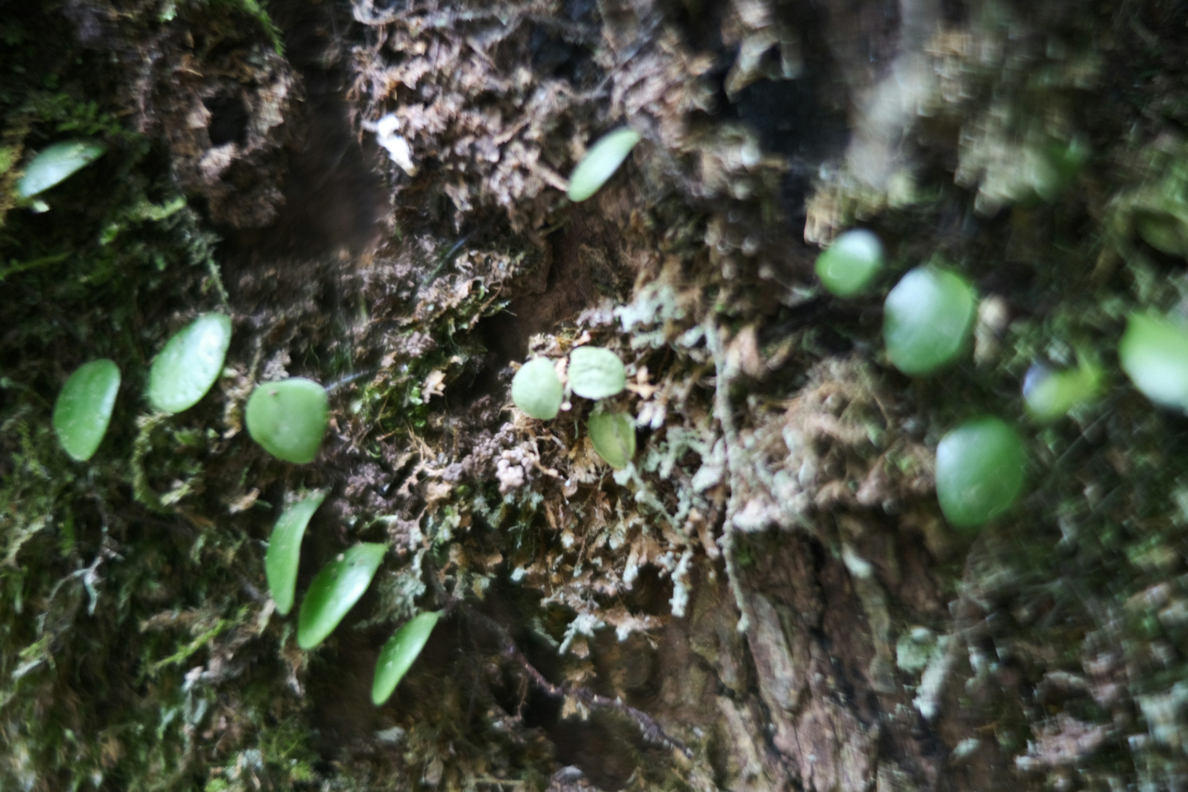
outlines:
[[[998,418],[975,418],[936,446],[936,498],[955,527],[973,528],[1009,509],[1023,492],[1028,452]]]

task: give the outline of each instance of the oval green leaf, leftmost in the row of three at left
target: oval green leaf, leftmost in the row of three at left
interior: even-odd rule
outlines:
[[[120,367],[93,360],[75,369],[53,405],[53,431],[62,448],[78,462],[95,455],[107,433],[120,389]]]

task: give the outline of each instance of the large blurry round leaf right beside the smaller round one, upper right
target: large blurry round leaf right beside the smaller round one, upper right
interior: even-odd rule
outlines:
[[[912,376],[939,370],[968,347],[977,312],[978,293],[965,278],[939,267],[916,267],[883,304],[887,357]]]

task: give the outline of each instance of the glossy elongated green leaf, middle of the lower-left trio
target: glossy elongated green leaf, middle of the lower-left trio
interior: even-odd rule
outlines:
[[[386,552],[387,545],[362,543],[322,568],[301,603],[297,646],[311,650],[334,632],[371,585]]]

